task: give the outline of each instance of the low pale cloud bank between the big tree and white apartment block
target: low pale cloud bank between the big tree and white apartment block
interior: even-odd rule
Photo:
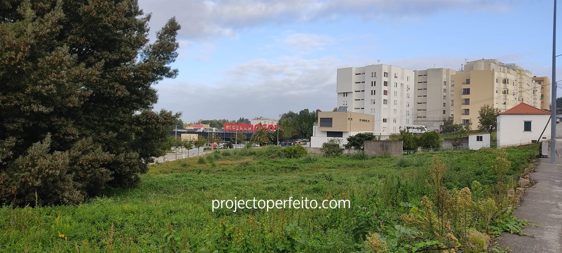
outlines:
[[[337,58],[283,57],[236,65],[215,84],[166,80],[158,85],[156,109],[183,111],[183,119],[277,118],[289,110],[336,107]]]

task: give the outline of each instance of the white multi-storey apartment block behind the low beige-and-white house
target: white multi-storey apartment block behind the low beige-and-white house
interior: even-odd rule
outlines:
[[[375,131],[400,133],[414,122],[414,71],[393,65],[346,67],[337,70],[338,106],[371,114]]]

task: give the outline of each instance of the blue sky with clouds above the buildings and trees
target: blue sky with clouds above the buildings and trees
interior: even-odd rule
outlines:
[[[184,122],[331,111],[337,106],[337,69],[378,62],[457,70],[465,59],[493,58],[551,78],[553,1],[139,0],[139,5],[152,13],[151,38],[172,16],[182,25],[172,64],[179,75],[154,88],[155,109],[182,112]],[[560,70],[556,67],[556,76],[562,80]]]

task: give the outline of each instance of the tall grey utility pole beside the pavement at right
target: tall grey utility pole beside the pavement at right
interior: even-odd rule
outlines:
[[[552,100],[550,102],[550,163],[554,164],[556,155],[556,0],[554,0],[554,17],[552,19]],[[554,85],[553,85],[554,84]]]

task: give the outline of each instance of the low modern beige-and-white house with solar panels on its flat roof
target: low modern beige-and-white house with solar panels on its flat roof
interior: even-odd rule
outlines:
[[[329,139],[342,140],[342,145],[347,144],[347,137],[357,133],[372,133],[380,135],[380,139],[388,139],[388,135],[374,131],[375,117],[368,114],[348,111],[320,111],[318,123],[312,126],[310,147],[322,147]]]

